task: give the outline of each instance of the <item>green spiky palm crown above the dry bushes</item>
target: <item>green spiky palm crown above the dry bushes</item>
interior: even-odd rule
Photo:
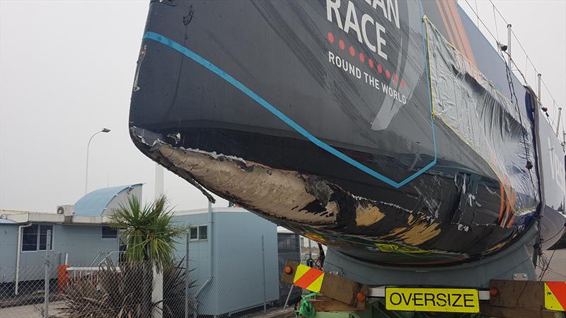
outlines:
[[[125,235],[127,261],[149,261],[157,271],[173,264],[175,239],[187,232],[188,226],[173,225],[171,211],[166,196],[143,207],[136,196],[130,196],[127,206],[112,209],[109,225]]]

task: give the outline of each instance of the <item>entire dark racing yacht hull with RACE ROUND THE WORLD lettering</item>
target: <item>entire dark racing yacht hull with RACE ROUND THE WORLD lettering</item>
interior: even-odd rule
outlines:
[[[210,201],[356,259],[496,254],[541,209],[533,96],[437,2],[151,1],[132,141]],[[564,196],[546,204],[563,224]]]

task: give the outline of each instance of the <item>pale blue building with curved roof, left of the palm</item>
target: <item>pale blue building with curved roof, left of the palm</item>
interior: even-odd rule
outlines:
[[[13,293],[33,292],[25,282],[45,279],[47,230],[51,231],[50,278],[57,266],[98,266],[106,255],[117,261],[119,237],[106,225],[112,208],[127,203],[129,196],[141,198],[142,184],[98,189],[74,205],[57,211],[0,210],[0,284]],[[11,285],[10,285],[11,284]],[[13,285],[13,286],[12,286]]]

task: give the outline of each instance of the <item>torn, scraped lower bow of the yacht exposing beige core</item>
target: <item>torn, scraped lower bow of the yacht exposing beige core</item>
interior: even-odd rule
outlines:
[[[403,208],[408,206],[403,202],[407,200],[397,196],[401,201],[394,201],[395,196],[388,196],[387,192],[377,192],[376,199],[366,199],[323,177],[276,169],[231,155],[175,147],[160,137],[132,127],[132,138],[138,147],[181,177],[263,218],[364,261],[413,266],[450,264],[484,254],[494,238],[503,247],[516,235],[516,230],[510,228],[455,220],[452,213],[446,213],[449,210],[440,213],[440,206],[429,213],[428,208],[435,204],[427,204],[422,198],[413,208]],[[424,183],[428,182],[441,181],[431,177]],[[454,180],[445,182],[451,183],[455,202],[459,201]],[[421,191],[430,189],[434,188],[424,186]],[[455,242],[456,236],[468,240],[461,238]]]

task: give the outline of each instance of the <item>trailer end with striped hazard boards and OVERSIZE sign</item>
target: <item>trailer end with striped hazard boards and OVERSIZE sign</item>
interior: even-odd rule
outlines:
[[[426,275],[425,273],[423,273]],[[368,286],[287,261],[281,281],[308,290],[299,317],[564,318],[566,282],[492,280],[489,289]]]

